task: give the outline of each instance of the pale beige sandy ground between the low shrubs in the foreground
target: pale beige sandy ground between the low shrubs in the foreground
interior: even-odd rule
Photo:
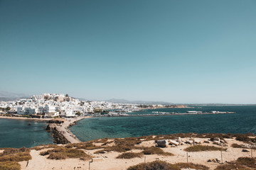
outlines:
[[[182,138],[182,140],[187,140],[188,138]],[[201,140],[201,142],[208,140],[207,138],[195,138],[195,140]],[[236,144],[243,144],[243,142],[237,141],[235,139],[225,139],[228,142],[228,149],[227,151],[223,152],[223,162],[231,162],[235,159],[238,159],[238,157],[250,157],[250,152],[242,152],[241,148],[233,148],[230,147],[233,143]],[[111,141],[111,140],[108,140]],[[102,145],[103,143],[95,143],[95,145]],[[111,145],[111,144],[110,144]],[[113,145],[113,144],[112,144]],[[141,147],[151,147],[155,146],[156,143],[154,143],[154,140],[150,141],[144,141],[138,146]],[[213,146],[212,142],[210,144],[203,145],[211,145]],[[95,169],[95,170],[121,170],[121,169],[127,169],[129,166],[136,165],[139,163],[142,163],[144,161],[146,162],[153,162],[155,160],[161,160],[166,161],[169,163],[177,163],[177,162],[187,162],[187,157],[183,149],[188,147],[190,145],[179,145],[176,147],[168,146],[166,148],[162,148],[164,152],[171,152],[174,154],[174,156],[161,156],[158,154],[154,155],[146,155],[142,158],[134,158],[134,159],[116,159],[116,157],[121,154],[119,152],[107,152],[105,154],[94,154],[95,151],[99,149],[94,150],[85,150],[87,154],[92,155],[92,159],[87,161],[82,161],[80,159],[65,159],[65,160],[52,160],[47,159],[48,156],[41,156],[40,152],[46,151],[48,149],[42,149],[39,151],[36,151],[34,149],[31,150],[31,156],[32,159],[29,162],[19,162],[21,164],[21,169]],[[214,145],[216,146],[216,145]],[[250,149],[249,149],[250,150]],[[129,152],[141,152],[142,150],[134,149]],[[0,151],[1,152],[1,151]],[[254,156],[256,155],[256,152],[253,153]],[[216,166],[220,165],[218,163],[214,162],[207,162],[208,159],[219,159],[221,160],[221,154],[220,151],[211,151],[211,152],[188,152],[188,162],[192,162],[194,164],[203,164],[210,169],[215,169]]]

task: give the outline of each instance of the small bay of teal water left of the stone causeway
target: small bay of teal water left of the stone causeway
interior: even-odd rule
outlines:
[[[31,125],[28,125],[28,124]],[[0,119],[0,147],[34,147],[52,144],[53,138],[44,127],[47,124],[33,120]]]

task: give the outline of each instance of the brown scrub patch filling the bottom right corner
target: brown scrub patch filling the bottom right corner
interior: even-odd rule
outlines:
[[[255,158],[250,157],[239,157],[235,162],[230,164],[219,165],[215,170],[232,170],[232,169],[243,169],[243,170],[252,170],[256,169],[256,160]]]

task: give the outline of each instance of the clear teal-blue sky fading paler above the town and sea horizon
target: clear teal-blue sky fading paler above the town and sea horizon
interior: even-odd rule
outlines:
[[[0,0],[0,90],[256,103],[256,1]]]

